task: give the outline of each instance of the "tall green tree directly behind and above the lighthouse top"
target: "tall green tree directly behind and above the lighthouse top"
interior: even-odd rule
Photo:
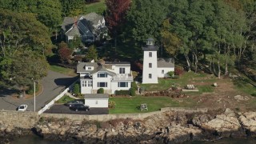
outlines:
[[[162,23],[169,5],[169,0],[134,0],[126,16],[126,37],[138,46],[149,37],[161,42]]]

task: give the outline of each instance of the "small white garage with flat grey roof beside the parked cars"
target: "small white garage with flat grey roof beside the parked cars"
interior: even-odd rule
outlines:
[[[90,107],[108,108],[109,94],[85,94],[85,105]]]

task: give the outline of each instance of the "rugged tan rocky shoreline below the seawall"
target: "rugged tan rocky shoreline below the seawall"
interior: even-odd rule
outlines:
[[[0,138],[20,137],[33,130],[46,139],[75,143],[180,143],[255,138],[256,112],[226,109],[189,114],[166,111],[143,120],[114,119],[109,122],[40,118],[32,130],[4,126],[1,122],[0,128]]]

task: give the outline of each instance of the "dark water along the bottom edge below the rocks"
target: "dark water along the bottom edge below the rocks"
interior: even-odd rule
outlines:
[[[28,135],[17,138],[11,144],[70,144],[72,142],[56,142],[42,139],[36,135]],[[215,142],[183,142],[183,144],[255,144],[256,138],[225,138]]]

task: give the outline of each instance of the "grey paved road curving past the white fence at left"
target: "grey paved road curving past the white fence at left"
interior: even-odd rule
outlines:
[[[43,91],[35,98],[36,111],[40,110],[42,106],[45,106],[58,94],[62,93],[62,90],[65,90],[76,79],[76,77],[70,77],[49,70],[47,76],[42,78]],[[1,90],[0,92],[0,110],[16,110],[17,106],[26,104],[28,105],[27,110],[34,111],[34,97],[29,99],[14,98],[10,94],[2,93]]]

